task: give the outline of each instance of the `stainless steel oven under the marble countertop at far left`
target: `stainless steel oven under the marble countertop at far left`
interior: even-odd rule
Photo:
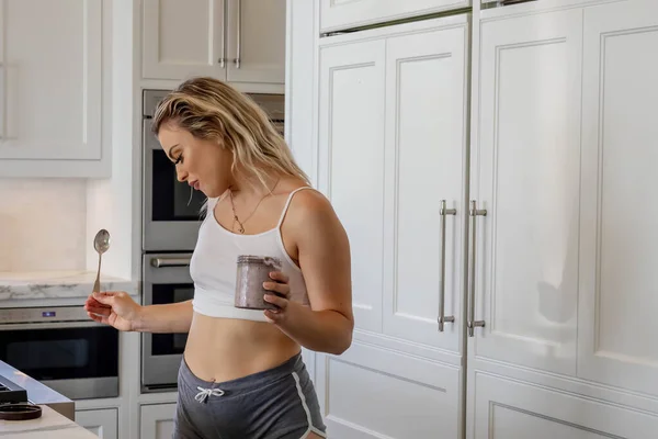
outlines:
[[[118,396],[118,331],[79,305],[0,308],[0,360],[71,399]]]

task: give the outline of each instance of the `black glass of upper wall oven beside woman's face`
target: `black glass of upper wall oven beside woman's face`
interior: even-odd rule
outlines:
[[[177,179],[175,166],[162,149],[151,151],[152,221],[198,221],[206,196]]]

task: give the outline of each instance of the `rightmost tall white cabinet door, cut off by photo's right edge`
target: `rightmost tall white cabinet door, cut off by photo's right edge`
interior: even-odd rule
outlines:
[[[578,375],[658,396],[658,3],[583,26]]]

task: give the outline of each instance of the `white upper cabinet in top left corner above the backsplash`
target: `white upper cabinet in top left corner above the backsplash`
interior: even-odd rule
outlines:
[[[0,177],[109,175],[103,8],[0,1]]]

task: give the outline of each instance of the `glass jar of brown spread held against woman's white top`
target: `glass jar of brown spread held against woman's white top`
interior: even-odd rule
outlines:
[[[281,271],[281,260],[269,256],[238,256],[235,306],[249,309],[276,309],[265,302],[266,293],[277,294],[263,288],[263,282],[273,281],[270,272]]]

